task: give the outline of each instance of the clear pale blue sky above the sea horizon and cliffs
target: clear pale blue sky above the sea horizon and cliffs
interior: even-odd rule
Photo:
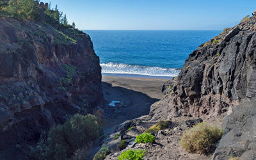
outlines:
[[[256,0],[51,0],[51,4],[58,4],[79,29],[221,30],[256,10]]]

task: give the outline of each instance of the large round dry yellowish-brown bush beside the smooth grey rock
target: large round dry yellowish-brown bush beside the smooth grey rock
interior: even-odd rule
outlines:
[[[206,123],[200,123],[184,132],[180,145],[188,152],[210,152],[214,143],[220,140],[223,129]]]

